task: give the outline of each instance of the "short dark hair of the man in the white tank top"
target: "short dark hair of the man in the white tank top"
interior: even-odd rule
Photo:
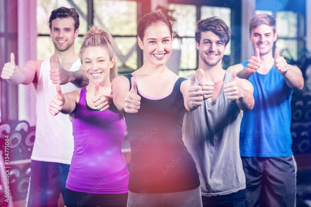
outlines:
[[[80,25],[79,14],[76,9],[74,8],[69,9],[66,7],[60,7],[52,11],[50,19],[49,19],[50,29],[52,29],[52,20],[56,18],[67,18],[67,17],[72,17],[73,20],[75,20],[75,31],[76,31]]]

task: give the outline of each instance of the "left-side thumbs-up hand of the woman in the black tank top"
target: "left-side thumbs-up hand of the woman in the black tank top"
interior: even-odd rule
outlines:
[[[134,77],[131,78],[131,90],[126,94],[122,107],[126,113],[137,113],[140,109],[141,97],[137,94],[137,83]]]

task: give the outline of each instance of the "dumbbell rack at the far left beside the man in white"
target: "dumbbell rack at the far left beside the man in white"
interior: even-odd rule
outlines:
[[[1,122],[0,133],[0,151],[4,151],[4,138],[9,135],[8,162],[4,163],[4,160],[7,161],[7,158],[4,159],[7,156],[4,153],[1,154],[0,160],[9,169],[10,205],[14,203],[14,206],[20,206],[25,203],[29,185],[30,155],[35,141],[35,127],[30,127],[26,121]],[[3,178],[2,175],[1,177]]]

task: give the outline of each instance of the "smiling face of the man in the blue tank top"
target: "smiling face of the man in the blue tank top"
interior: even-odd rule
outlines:
[[[260,55],[265,55],[269,52],[272,54],[273,43],[276,41],[276,32],[273,32],[273,27],[268,25],[259,25],[252,30],[249,38],[252,42],[253,49],[259,49]]]

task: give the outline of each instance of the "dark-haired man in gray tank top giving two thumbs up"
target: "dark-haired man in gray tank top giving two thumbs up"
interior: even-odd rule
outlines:
[[[197,165],[203,206],[244,206],[250,195],[245,194],[239,132],[243,111],[254,106],[253,85],[221,67],[231,38],[223,20],[198,21],[195,38],[199,51],[196,83],[203,89],[204,101],[186,112],[183,140]]]

